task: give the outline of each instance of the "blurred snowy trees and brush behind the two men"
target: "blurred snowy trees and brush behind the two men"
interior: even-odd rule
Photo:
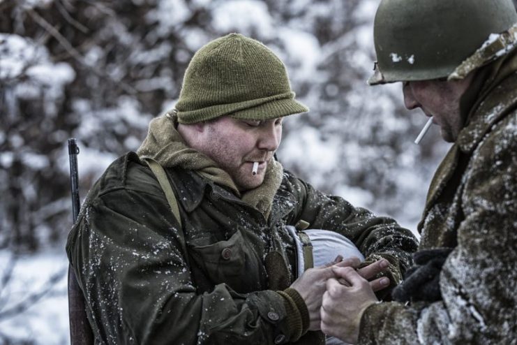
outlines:
[[[179,96],[194,52],[239,32],[283,59],[310,112],[278,151],[317,188],[415,231],[448,145],[403,108],[400,85],[368,87],[379,0],[0,0],[0,344],[67,344],[66,140],[80,194],[136,150]]]

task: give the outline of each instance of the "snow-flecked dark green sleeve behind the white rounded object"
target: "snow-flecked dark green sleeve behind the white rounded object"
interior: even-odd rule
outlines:
[[[299,219],[310,223],[310,228],[334,230],[349,238],[365,257],[363,265],[386,258],[391,265],[387,275],[391,286],[377,293],[382,299],[391,298],[391,289],[401,280],[412,264],[412,253],[417,250],[417,239],[410,230],[401,228],[394,219],[375,216],[372,212],[353,207],[339,196],[329,196],[317,191],[310,184],[290,177],[293,193],[299,197]]]

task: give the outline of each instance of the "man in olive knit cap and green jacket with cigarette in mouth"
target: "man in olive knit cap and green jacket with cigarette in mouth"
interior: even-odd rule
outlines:
[[[324,344],[320,305],[334,274],[309,268],[310,242],[287,226],[347,237],[364,262],[333,264],[389,295],[416,248],[410,231],[274,158],[283,118],[306,111],[262,43],[230,34],[195,54],[175,108],[107,169],[68,237],[97,342]]]

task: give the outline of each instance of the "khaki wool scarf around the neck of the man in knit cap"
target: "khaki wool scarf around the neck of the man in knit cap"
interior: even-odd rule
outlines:
[[[255,207],[268,219],[273,198],[282,182],[282,165],[271,159],[264,182],[255,189],[240,193],[225,170],[218,168],[208,156],[186,145],[176,126],[177,118],[170,114],[151,120],[147,137],[137,150],[140,159],[154,159],[164,168],[180,167],[195,171],[213,183],[230,188],[244,203]]]

